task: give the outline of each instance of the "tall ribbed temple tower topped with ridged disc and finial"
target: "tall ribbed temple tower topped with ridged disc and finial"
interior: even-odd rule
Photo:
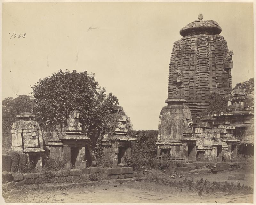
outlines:
[[[221,28],[214,20],[198,20],[181,28],[183,37],[174,42],[169,66],[168,99],[186,99],[196,125],[196,114],[209,105],[211,94],[227,93],[231,87],[233,51],[219,35]],[[198,116],[197,116],[198,118]]]

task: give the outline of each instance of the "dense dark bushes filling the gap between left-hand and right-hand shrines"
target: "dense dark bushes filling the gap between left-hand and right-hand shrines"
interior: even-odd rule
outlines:
[[[133,167],[134,171],[152,167],[157,155],[157,130],[133,130],[131,137],[137,141],[132,143],[131,158],[125,159],[126,166]]]

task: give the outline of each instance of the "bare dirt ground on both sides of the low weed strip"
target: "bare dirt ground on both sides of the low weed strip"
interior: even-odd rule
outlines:
[[[149,173],[151,172],[151,173]],[[235,173],[245,174],[244,180],[227,180],[228,175]],[[178,181],[184,179],[176,177],[170,179],[170,173],[160,170],[149,170],[143,177],[168,177],[169,180]],[[253,187],[253,170],[236,170],[218,174],[201,174],[194,176],[194,180],[200,178],[217,182],[237,181],[242,185]],[[210,193],[199,196],[196,190],[183,190],[170,185],[156,184],[154,181],[133,181],[122,184],[107,184],[93,187],[68,188],[67,190],[25,190],[24,194],[12,194],[5,198],[5,202],[30,202],[30,203],[253,203],[253,194],[227,194]]]

